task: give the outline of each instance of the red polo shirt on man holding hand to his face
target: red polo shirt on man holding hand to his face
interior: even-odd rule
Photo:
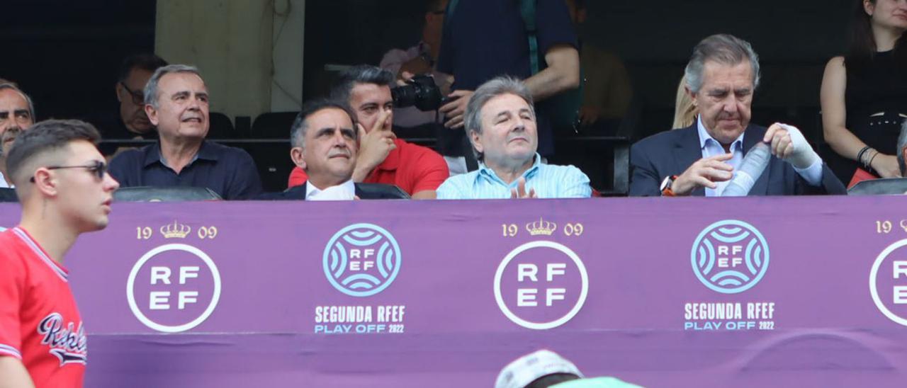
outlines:
[[[438,189],[450,176],[447,162],[441,154],[400,139],[394,143],[397,148],[387,154],[385,161],[375,167],[363,182],[396,185],[413,195],[419,191]],[[288,186],[299,186],[307,179],[306,171],[297,167],[289,174]]]

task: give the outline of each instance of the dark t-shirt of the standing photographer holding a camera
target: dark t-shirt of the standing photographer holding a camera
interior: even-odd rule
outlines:
[[[576,34],[563,0],[537,0],[536,34],[539,53],[555,44],[576,47]],[[532,75],[529,38],[520,14],[520,0],[459,0],[446,15],[437,70],[453,74],[451,90],[474,91],[499,75],[521,79]],[[544,63],[540,63],[543,68]],[[554,151],[551,124],[545,112],[537,112],[539,153]],[[441,131],[438,148],[444,155],[462,156],[463,131]]]

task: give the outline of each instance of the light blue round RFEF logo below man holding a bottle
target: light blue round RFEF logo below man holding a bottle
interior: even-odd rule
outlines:
[[[703,285],[722,294],[756,286],[768,269],[768,244],[744,221],[726,219],[709,225],[693,243],[690,261]]]

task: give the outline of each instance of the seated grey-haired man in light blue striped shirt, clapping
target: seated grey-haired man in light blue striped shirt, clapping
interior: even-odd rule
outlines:
[[[438,199],[589,198],[589,178],[573,166],[541,162],[532,96],[510,77],[485,82],[463,117],[479,170],[453,176]]]

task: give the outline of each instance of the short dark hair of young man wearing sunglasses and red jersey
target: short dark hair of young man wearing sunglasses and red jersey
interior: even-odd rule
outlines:
[[[15,138],[13,148],[6,156],[6,172],[18,185],[24,177],[22,169],[30,160],[55,150],[63,149],[73,141],[101,141],[101,134],[92,124],[79,120],[45,120],[22,131]],[[34,171],[32,171],[34,173]]]

